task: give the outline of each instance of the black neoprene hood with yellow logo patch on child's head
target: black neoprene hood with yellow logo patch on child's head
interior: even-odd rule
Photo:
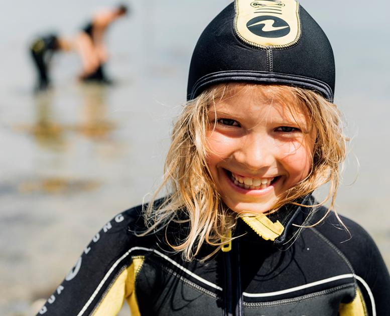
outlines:
[[[195,46],[187,99],[210,85],[237,81],[303,87],[332,101],[332,47],[294,0],[236,0],[211,21]]]

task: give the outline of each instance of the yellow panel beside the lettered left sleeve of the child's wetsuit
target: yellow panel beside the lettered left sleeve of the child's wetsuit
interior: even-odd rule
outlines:
[[[134,284],[144,263],[144,256],[133,258],[133,263],[123,270],[111,285],[103,300],[93,312],[93,316],[116,315],[122,308],[124,298],[132,311],[132,316],[140,316]]]

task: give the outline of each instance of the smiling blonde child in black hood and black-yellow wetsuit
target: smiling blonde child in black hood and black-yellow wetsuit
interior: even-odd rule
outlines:
[[[254,5],[256,4],[256,5]],[[334,59],[293,0],[236,0],[202,33],[169,195],[118,214],[40,314],[386,315],[390,277],[333,210],[345,157]],[[312,192],[329,184],[330,208]]]

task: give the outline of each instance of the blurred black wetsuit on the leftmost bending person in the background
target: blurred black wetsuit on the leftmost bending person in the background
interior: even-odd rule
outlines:
[[[45,89],[49,85],[48,65],[53,53],[58,49],[58,39],[55,34],[40,37],[31,44],[31,56],[38,71],[37,89]]]

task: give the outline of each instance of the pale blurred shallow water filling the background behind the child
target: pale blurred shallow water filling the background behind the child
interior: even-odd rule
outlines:
[[[72,36],[109,3],[14,1],[0,13],[2,315],[36,311],[32,302],[61,282],[91,236],[158,185],[192,49],[229,2],[134,2],[107,36],[115,85],[78,83],[78,59],[67,54],[53,60],[53,89],[34,95],[29,41],[50,29]],[[378,12],[353,1],[301,3],[333,44],[336,102],[352,136],[338,209],[370,232],[390,266],[389,5],[381,1]]]

